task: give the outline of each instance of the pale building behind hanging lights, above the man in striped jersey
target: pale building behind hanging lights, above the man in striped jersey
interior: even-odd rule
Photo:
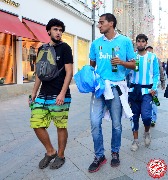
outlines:
[[[114,0],[114,14],[117,17],[117,29],[130,37],[135,45],[138,34],[146,34],[148,44],[153,44],[153,21],[151,0]]]

